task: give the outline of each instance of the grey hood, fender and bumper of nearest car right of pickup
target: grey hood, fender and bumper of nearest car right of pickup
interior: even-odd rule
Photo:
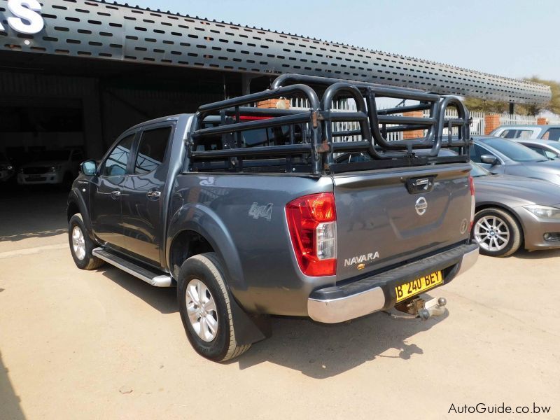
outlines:
[[[524,206],[538,204],[560,208],[560,187],[538,179],[510,175],[475,177],[476,207],[500,207],[521,224],[524,247],[530,251],[559,248],[560,242],[547,242],[543,235],[560,232],[560,219],[538,218]]]

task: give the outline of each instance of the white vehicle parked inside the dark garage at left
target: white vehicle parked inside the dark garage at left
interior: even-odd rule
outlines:
[[[44,151],[33,162],[20,167],[18,184],[22,186],[38,184],[69,184],[78,176],[83,152],[77,148]]]

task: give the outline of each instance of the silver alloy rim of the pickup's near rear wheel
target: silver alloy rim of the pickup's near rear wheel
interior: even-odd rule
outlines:
[[[218,333],[218,311],[214,296],[199,279],[189,281],[186,290],[187,314],[190,325],[205,342],[211,342]]]

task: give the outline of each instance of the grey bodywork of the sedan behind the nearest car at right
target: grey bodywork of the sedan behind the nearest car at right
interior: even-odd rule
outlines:
[[[545,160],[543,162],[516,162],[508,158],[496,148],[484,143],[484,139],[496,139],[496,137],[473,137],[476,145],[486,149],[489,154],[496,156],[499,165],[479,163],[484,169],[488,169],[493,174],[505,174],[523,176],[525,178],[542,179],[560,186],[560,161]],[[501,139],[502,141],[510,141]],[[517,143],[517,142],[516,142]],[[473,150],[474,148],[472,148]]]

